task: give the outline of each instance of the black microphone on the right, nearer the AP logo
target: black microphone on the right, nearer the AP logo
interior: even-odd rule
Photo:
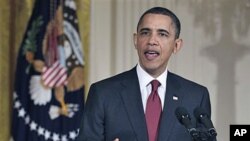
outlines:
[[[208,129],[208,132],[211,137],[217,136],[217,132],[213,126],[211,119],[209,118],[210,116],[203,108],[201,107],[195,108],[194,116],[199,123],[203,124]]]

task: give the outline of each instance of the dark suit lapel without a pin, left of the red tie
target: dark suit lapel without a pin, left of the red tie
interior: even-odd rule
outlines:
[[[136,69],[129,71],[121,84],[121,97],[128,113],[130,123],[138,141],[147,141],[147,126],[143,111],[140,86]]]

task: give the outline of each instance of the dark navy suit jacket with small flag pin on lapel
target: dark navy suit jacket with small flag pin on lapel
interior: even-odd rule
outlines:
[[[185,107],[195,124],[193,110],[200,106],[210,113],[205,87],[168,72],[165,104],[158,141],[191,141],[175,109]],[[173,99],[178,97],[178,100]],[[78,141],[148,141],[146,120],[136,69],[91,85]]]

